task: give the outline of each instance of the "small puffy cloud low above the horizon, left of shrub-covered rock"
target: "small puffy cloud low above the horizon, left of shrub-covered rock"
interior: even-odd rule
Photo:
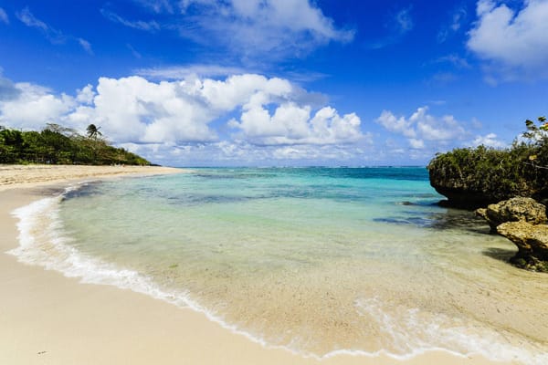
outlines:
[[[466,130],[452,115],[435,117],[428,113],[428,107],[418,108],[410,117],[396,117],[392,111],[383,110],[377,123],[408,139],[413,149],[424,149],[425,141],[448,143],[460,141],[466,136]]]

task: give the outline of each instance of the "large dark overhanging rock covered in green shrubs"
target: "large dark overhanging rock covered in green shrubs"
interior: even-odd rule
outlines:
[[[514,196],[548,198],[548,123],[526,120],[521,141],[498,150],[485,146],[437,154],[428,164],[430,183],[448,203],[477,208]]]

